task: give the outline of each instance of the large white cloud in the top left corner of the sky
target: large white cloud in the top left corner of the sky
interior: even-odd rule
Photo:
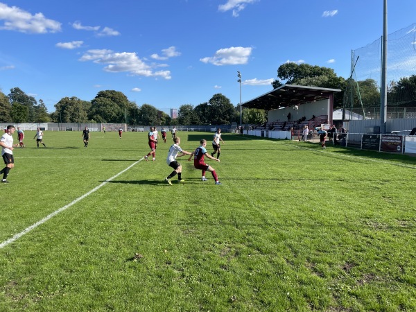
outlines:
[[[0,30],[19,31],[21,33],[56,33],[61,24],[53,19],[46,19],[42,13],[31,13],[16,6],[7,6],[0,2],[0,20],[4,21]]]

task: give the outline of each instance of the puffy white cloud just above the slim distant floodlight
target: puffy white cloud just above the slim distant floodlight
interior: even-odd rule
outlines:
[[[216,51],[215,55],[212,57],[200,58],[200,61],[204,63],[211,63],[216,66],[247,64],[251,53],[252,48],[232,46],[231,48]]]

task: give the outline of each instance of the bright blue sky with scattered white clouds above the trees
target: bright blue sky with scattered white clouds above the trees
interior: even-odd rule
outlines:
[[[388,33],[416,22],[388,3]],[[349,77],[351,51],[382,35],[383,0],[0,0],[0,89],[49,112],[101,90],[169,113],[217,93],[237,105],[272,89],[285,62]]]

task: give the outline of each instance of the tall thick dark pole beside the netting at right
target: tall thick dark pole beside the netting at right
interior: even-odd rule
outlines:
[[[381,42],[380,133],[385,133],[387,130],[387,0],[384,0],[383,13],[383,40]]]

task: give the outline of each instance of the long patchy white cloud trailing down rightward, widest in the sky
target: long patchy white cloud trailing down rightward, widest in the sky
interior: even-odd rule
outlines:
[[[105,49],[89,50],[79,60],[105,64],[103,69],[112,73],[127,72],[132,76],[171,79],[171,71],[153,71],[153,67],[141,60],[135,52],[116,53]]]

